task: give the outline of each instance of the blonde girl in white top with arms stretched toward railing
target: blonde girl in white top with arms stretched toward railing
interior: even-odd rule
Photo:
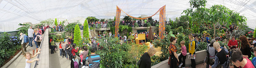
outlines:
[[[41,51],[40,48],[38,48],[37,50]],[[31,68],[31,63],[34,62],[34,61],[38,61],[39,59],[36,58],[34,60],[31,60],[31,58],[34,58],[37,56],[37,54],[40,54],[40,52],[37,52],[34,56],[32,56],[32,54],[30,54],[29,52],[26,52],[24,57],[26,58],[26,66],[25,68]]]

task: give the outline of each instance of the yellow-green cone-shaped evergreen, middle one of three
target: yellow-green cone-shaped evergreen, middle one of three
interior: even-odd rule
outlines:
[[[78,41],[81,39],[80,36],[80,28],[78,26],[78,24],[75,26],[75,30],[74,30],[74,43],[78,44]]]

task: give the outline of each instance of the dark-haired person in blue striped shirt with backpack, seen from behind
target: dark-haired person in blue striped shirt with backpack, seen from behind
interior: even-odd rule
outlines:
[[[100,55],[95,54],[96,48],[91,48],[91,55],[86,58],[86,61],[89,62],[89,68],[100,68]]]

